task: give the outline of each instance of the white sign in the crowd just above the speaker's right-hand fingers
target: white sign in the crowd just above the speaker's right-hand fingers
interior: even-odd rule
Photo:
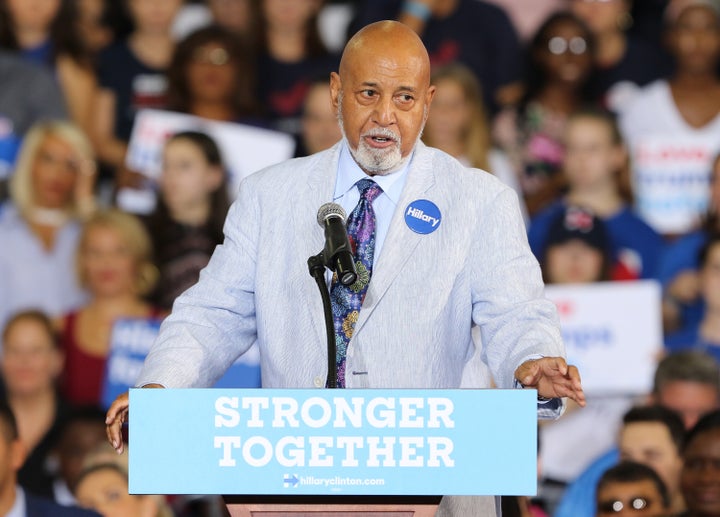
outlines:
[[[660,286],[653,280],[548,285],[568,362],[588,395],[644,394],[662,352]]]

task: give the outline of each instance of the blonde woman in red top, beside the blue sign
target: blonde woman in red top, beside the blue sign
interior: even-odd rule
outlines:
[[[143,300],[154,287],[150,238],[140,220],[119,210],[98,212],[83,227],[77,277],[90,300],[60,322],[65,352],[62,393],[74,405],[100,405],[113,325],[122,318],[155,319]]]

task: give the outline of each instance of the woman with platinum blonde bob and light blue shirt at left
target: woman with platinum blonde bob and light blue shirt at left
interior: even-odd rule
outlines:
[[[73,258],[80,221],[95,208],[95,162],[84,133],[67,122],[28,131],[0,217],[0,327],[20,309],[58,316],[84,300]]]

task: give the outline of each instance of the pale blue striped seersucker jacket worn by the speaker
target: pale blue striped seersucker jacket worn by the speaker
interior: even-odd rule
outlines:
[[[211,386],[255,341],[264,387],[325,385],[322,300],[307,259],[324,246],[316,214],[332,201],[339,149],[242,182],[225,242],[175,302],[138,385]],[[441,211],[433,233],[405,224],[417,199]],[[462,379],[463,387],[487,387],[491,379],[475,374],[486,369],[463,375],[475,352],[473,324],[499,387],[512,387],[515,368],[529,357],[564,356],[515,192],[419,143],[349,344],[346,385],[457,388]],[[496,502],[446,497],[438,515],[491,516]]]

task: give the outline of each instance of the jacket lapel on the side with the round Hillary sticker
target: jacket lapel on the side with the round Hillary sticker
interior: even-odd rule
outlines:
[[[415,248],[424,237],[407,227],[405,224],[405,209],[412,201],[426,197],[426,193],[435,184],[435,173],[432,170],[428,154],[427,147],[422,142],[418,142],[408,170],[408,176],[405,179],[400,201],[395,208],[390,223],[390,229],[385,237],[380,256],[373,267],[370,285],[355,325],[355,334],[372,315],[377,303],[402,271],[405,263],[415,252]]]

